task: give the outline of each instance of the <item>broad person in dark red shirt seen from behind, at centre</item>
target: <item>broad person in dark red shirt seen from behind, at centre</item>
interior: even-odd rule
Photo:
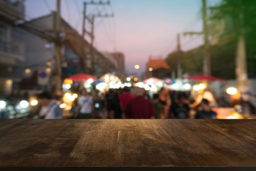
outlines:
[[[135,98],[125,107],[125,116],[128,119],[153,119],[156,112],[151,101],[143,97],[144,89],[135,87]]]

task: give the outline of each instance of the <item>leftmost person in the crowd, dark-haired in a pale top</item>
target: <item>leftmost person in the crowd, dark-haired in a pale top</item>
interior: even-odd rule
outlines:
[[[62,110],[51,95],[47,92],[38,95],[38,102],[41,105],[39,118],[41,119],[62,119]]]

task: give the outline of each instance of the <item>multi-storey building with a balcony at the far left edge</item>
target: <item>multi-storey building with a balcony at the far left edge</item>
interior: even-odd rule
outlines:
[[[19,80],[12,70],[24,61],[24,44],[13,36],[13,27],[23,19],[24,0],[0,0],[0,96],[9,95],[13,80]]]

